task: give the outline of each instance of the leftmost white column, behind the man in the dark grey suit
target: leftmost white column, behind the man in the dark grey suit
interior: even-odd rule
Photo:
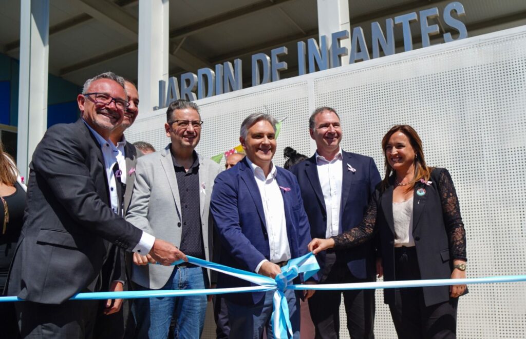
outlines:
[[[22,0],[16,161],[26,178],[33,152],[47,129],[48,38],[49,0]]]

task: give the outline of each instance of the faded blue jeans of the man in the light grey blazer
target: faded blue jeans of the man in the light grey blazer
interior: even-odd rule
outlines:
[[[161,290],[204,288],[203,269],[176,267]],[[133,314],[137,322],[138,337],[165,339],[170,321],[174,317],[176,320],[174,339],[199,338],[205,324],[206,304],[206,295],[135,299]]]

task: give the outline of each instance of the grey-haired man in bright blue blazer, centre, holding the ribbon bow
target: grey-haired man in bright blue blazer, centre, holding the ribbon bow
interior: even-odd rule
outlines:
[[[296,177],[272,164],[276,120],[249,115],[239,140],[246,157],[216,177],[210,209],[221,241],[220,261],[230,267],[275,278],[289,259],[308,252],[309,221]],[[219,274],[219,288],[250,283]],[[270,316],[274,291],[225,295],[232,338],[273,338]],[[307,293],[307,298],[312,291]],[[299,338],[298,296],[286,290],[294,338]]]

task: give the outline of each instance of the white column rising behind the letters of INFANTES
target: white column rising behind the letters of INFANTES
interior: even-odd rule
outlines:
[[[349,38],[341,39],[340,46],[346,47],[349,53],[351,51],[351,28],[349,20],[349,0],[318,0],[319,45],[321,46],[321,37],[324,35],[327,36],[327,48],[330,51],[332,33],[347,30],[349,32]],[[345,62],[341,59],[340,57],[340,64],[347,65],[348,58],[345,58]]]

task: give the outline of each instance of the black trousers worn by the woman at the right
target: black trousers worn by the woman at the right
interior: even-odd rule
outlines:
[[[414,247],[395,248],[396,280],[420,280]],[[395,304],[389,305],[399,338],[456,338],[458,298],[426,306],[422,288],[395,290]]]

